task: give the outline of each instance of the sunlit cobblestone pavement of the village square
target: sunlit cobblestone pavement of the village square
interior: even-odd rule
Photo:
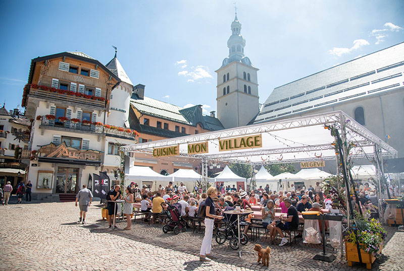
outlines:
[[[213,253],[218,259],[199,261],[203,233],[164,234],[161,226],[141,222],[124,231],[108,228],[100,220],[99,206],[91,206],[85,225],[77,224],[79,210],[74,202],[32,203],[0,206],[1,270],[264,270],[257,255],[230,249],[228,241],[218,245],[212,239]],[[372,270],[404,270],[404,231],[387,228],[388,240],[383,255],[372,264]],[[280,240],[278,239],[278,242]],[[253,250],[256,242],[248,242],[243,250]],[[266,245],[266,239],[259,241]],[[349,267],[340,251],[333,262],[313,260],[321,251],[318,245],[297,244],[284,247],[271,245],[271,270],[366,270],[365,264]],[[331,251],[330,247],[327,248]]]

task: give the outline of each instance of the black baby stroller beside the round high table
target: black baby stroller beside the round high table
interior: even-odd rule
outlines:
[[[226,207],[224,212],[234,210],[233,207]],[[244,216],[240,216],[240,226],[247,225],[246,222],[242,221]],[[238,249],[238,225],[237,225],[237,215],[223,214],[224,229],[218,229],[216,233],[215,240],[218,244],[224,244],[227,239],[229,239],[229,245],[232,249]],[[248,243],[248,237],[240,230],[240,243],[246,245]]]

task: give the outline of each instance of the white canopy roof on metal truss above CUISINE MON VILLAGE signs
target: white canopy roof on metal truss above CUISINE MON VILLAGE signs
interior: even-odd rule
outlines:
[[[334,137],[324,125],[341,126],[349,134],[349,141],[355,143],[350,158],[371,155],[375,144],[384,156],[395,156],[397,151],[375,134],[363,127],[342,111],[302,116],[235,127],[231,129],[187,135],[142,144],[123,146],[126,152],[153,153],[154,148],[179,145],[180,156],[199,157],[208,160],[247,164],[290,163],[303,161],[335,160]],[[219,140],[246,135],[262,135],[262,147],[246,150],[219,152]],[[207,141],[209,153],[188,155],[187,145]]]

